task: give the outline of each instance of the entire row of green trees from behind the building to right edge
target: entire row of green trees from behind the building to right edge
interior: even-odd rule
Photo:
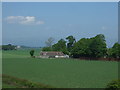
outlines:
[[[115,43],[112,48],[107,48],[105,36],[98,34],[92,38],[82,38],[76,41],[72,35],[66,37],[66,40],[60,39],[57,43],[53,44],[48,39],[47,44],[51,46],[44,47],[42,51],[62,51],[73,58],[80,57],[110,57],[120,58],[120,44]]]

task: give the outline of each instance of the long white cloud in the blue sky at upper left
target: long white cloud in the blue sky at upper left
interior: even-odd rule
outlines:
[[[23,25],[39,25],[44,24],[44,21],[36,20],[34,16],[8,16],[5,18],[8,23],[18,23]]]

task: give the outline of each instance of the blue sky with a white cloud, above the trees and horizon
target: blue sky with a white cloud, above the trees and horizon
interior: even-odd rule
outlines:
[[[49,37],[76,40],[104,34],[111,47],[118,41],[117,2],[4,2],[3,44],[45,46]]]

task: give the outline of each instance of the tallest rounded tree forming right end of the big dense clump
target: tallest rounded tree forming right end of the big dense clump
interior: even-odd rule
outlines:
[[[98,34],[97,36],[91,38],[90,50],[92,52],[92,57],[104,57],[107,55],[105,36],[103,34]]]

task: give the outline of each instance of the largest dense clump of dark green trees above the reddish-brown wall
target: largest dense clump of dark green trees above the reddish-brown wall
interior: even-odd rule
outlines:
[[[104,57],[107,47],[104,35],[97,35],[93,38],[82,38],[73,46],[71,54],[73,57]]]

